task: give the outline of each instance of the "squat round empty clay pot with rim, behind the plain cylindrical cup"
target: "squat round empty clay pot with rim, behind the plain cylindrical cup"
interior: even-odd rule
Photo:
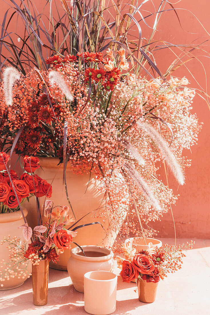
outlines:
[[[84,274],[89,271],[109,271],[114,270],[113,252],[110,249],[100,246],[82,246],[87,257],[85,257],[79,247],[71,250],[71,257],[68,261],[68,273],[75,289],[84,292]]]

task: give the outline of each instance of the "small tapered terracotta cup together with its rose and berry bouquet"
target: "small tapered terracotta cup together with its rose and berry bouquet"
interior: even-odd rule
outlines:
[[[129,260],[116,256],[123,282],[135,280],[139,301],[151,303],[155,301],[157,285],[160,279],[167,277],[168,272],[175,272],[182,267],[182,258],[186,257],[183,250],[192,249],[195,242],[175,245],[164,244],[155,250],[141,250],[137,253],[127,246]]]

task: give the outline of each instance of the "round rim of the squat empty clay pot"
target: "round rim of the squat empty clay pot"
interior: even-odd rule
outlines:
[[[89,261],[89,262],[95,262],[95,261],[107,261],[113,258],[114,253],[111,249],[96,246],[96,245],[83,245],[81,246],[84,251],[97,251],[99,253],[106,254],[106,256],[101,257],[87,257],[87,256],[81,256],[77,255],[77,253],[81,253],[82,250],[79,247],[74,247],[71,249],[71,257],[81,260],[81,261]]]

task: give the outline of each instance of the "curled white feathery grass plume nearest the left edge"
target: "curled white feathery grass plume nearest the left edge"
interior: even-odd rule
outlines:
[[[20,72],[14,67],[7,67],[3,72],[4,97],[8,106],[12,105],[13,84],[20,79]]]

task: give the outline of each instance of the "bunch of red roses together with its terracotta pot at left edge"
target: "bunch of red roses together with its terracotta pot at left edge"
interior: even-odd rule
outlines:
[[[0,152],[0,239],[3,240],[3,236],[14,233],[19,243],[23,242],[23,236],[18,228],[21,224],[27,224],[28,212],[25,202],[35,196],[37,198],[39,196],[51,197],[52,194],[50,184],[33,173],[39,168],[39,159],[25,156],[23,161],[25,171],[18,178],[17,173],[10,168],[10,156],[5,152]],[[22,208],[23,206],[26,208]],[[0,261],[8,263],[9,254],[8,246],[3,244]],[[18,272],[11,273],[12,277],[7,278],[9,281],[6,283],[2,282],[3,279],[0,280],[1,289],[12,289],[24,283],[28,272],[31,272],[31,267],[28,266],[26,269],[26,265],[20,265],[18,269]]]

